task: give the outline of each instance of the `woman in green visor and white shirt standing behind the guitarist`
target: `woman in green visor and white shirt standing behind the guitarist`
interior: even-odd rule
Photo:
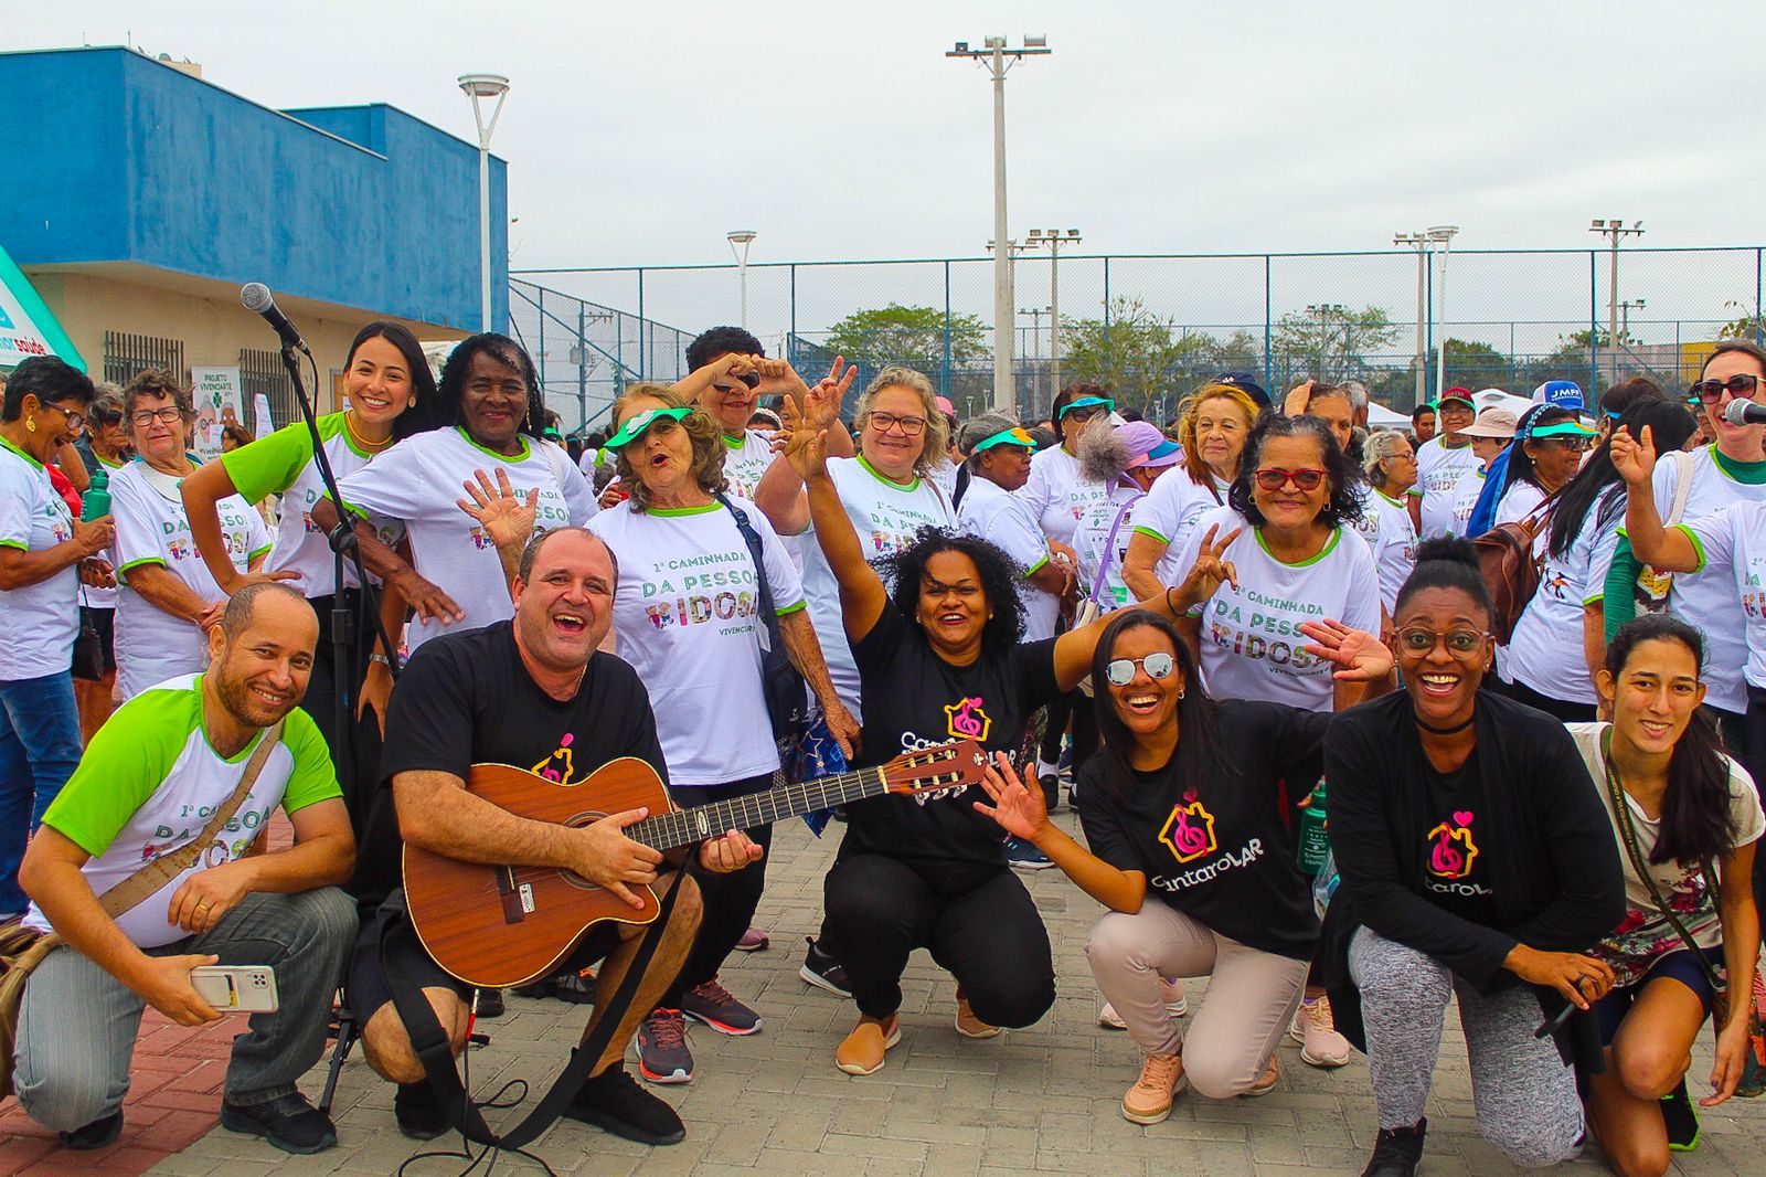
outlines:
[[[630,497],[588,530],[613,551],[618,585],[613,633],[650,693],[669,792],[682,806],[765,792],[779,772],[761,684],[766,626],[759,585],[772,594],[786,654],[804,673],[828,730],[849,756],[858,725],[834,693],[796,566],[752,502],[726,495],[719,421],[662,385],[639,383],[613,406],[608,438]],[[756,566],[743,525],[758,539]],[[749,838],[765,852],[772,825]],[[685,1020],[719,1034],[754,1034],[761,1018],[719,983],[766,885],[766,859],[699,880],[705,917],[680,976],[638,1029],[639,1073],[652,1083],[692,1080]]]

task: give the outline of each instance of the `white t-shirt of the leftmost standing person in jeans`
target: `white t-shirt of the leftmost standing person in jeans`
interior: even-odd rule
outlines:
[[[48,551],[72,537],[74,516],[49,484],[49,472],[0,442],[0,546]],[[0,682],[67,673],[79,633],[79,566],[35,585],[0,590],[0,620],[9,634],[0,642]]]

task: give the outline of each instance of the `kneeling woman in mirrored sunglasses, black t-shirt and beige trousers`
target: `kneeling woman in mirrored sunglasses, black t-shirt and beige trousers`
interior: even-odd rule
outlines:
[[[1335,675],[1388,689],[1392,654],[1372,634],[1303,626],[1309,654]],[[1263,1096],[1319,931],[1284,781],[1317,778],[1330,716],[1211,702],[1176,627],[1146,610],[1107,622],[1091,680],[1104,748],[1081,771],[1086,845],[1049,822],[1003,756],[984,786],[992,804],[975,808],[1109,908],[1086,956],[1144,1055],[1123,1117],[1158,1124],[1187,1085],[1210,1099]],[[1189,1032],[1167,1009],[1166,976],[1211,977]]]

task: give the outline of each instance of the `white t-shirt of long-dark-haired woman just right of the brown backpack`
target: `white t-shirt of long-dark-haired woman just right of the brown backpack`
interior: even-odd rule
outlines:
[[[1607,566],[1612,564],[1612,553],[1619,546],[1619,523],[1625,521],[1623,484],[1618,497],[1619,504],[1604,527],[1600,500],[1589,507],[1561,557],[1545,555],[1551,548],[1551,527],[1535,537],[1533,553],[1545,555],[1540,587],[1521,611],[1508,645],[1496,656],[1496,672],[1503,682],[1519,680],[1547,698],[1568,703],[1600,702],[1582,650],[1582,611],[1605,597]]]

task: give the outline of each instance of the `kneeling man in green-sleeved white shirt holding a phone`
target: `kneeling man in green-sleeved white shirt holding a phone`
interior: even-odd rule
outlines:
[[[221,1018],[191,986],[198,965],[268,965],[281,1007],[233,1039],[221,1126],[284,1152],[318,1152],[337,1131],[295,1090],[325,1050],[332,995],[355,935],[355,839],[330,753],[295,703],[307,689],[318,619],[281,585],[242,588],[208,633],[208,670],[122,705],[42,816],[19,868],[25,926],[65,947],[25,984],[18,1101],[69,1149],[122,1133],[143,1004],[178,1025]],[[244,783],[265,728],[281,739],[212,841],[115,919],[99,894],[177,855]],[[277,806],[295,845],[251,854]],[[147,884],[152,885],[152,884]]]

